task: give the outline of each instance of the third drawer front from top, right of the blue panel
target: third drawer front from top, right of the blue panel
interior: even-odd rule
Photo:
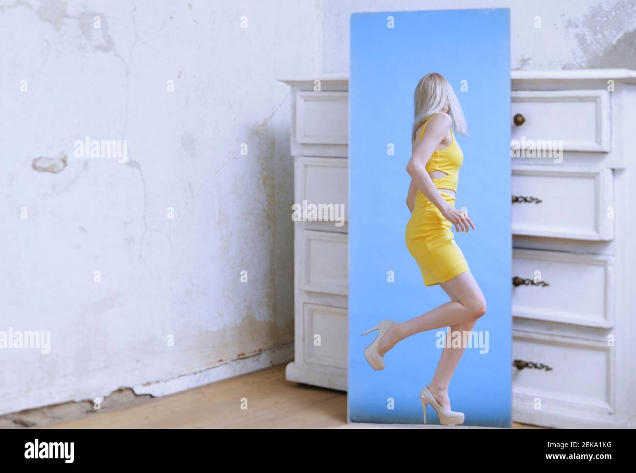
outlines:
[[[609,329],[614,265],[608,255],[513,249],[513,317]],[[547,285],[546,285],[547,284]]]

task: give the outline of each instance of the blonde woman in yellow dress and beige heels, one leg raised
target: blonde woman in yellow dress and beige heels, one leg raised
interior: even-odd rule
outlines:
[[[414,94],[413,152],[406,166],[411,184],[406,205],[406,247],[417,262],[424,285],[439,284],[450,302],[405,322],[382,320],[363,335],[378,330],[364,350],[373,369],[384,369],[384,355],[397,342],[419,332],[450,326],[452,334],[470,332],[486,312],[486,300],[453,238],[455,231],[475,230],[466,212],[455,209],[459,168],[464,160],[452,128],[467,134],[466,118],[452,86],[436,72],[426,74]],[[466,339],[462,336],[462,340]],[[420,393],[426,423],[431,404],[443,425],[464,422],[464,414],[450,409],[448,385],[466,347],[445,346],[435,374]]]

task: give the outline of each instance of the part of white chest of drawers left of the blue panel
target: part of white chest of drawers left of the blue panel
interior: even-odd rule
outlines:
[[[347,390],[349,79],[284,79],[291,86],[294,203],[343,204],[342,225],[294,222],[294,362],[286,377]]]

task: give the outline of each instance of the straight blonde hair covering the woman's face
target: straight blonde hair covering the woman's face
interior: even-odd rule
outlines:
[[[415,135],[422,123],[438,112],[450,115],[450,118],[453,119],[455,132],[462,136],[468,134],[466,116],[464,116],[462,106],[460,106],[452,86],[441,74],[429,72],[420,79],[413,94],[413,106],[415,120],[413,120],[411,141],[415,141]]]

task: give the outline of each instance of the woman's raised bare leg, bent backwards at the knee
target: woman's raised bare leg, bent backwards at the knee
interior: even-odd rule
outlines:
[[[378,344],[378,353],[381,356],[391,350],[397,342],[411,335],[471,322],[486,313],[486,299],[471,271],[465,271],[440,285],[457,300],[442,304],[406,322],[393,324]]]

